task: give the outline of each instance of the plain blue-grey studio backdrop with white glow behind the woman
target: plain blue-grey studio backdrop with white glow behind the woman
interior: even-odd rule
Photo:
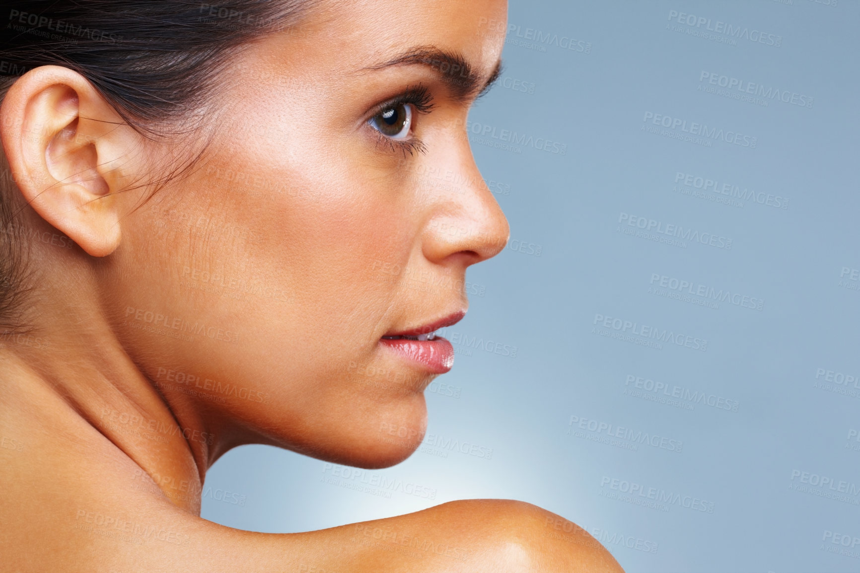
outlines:
[[[586,527],[629,572],[860,570],[860,382],[845,383],[860,379],[858,23],[847,0],[511,0],[505,71],[470,114],[470,139],[512,240],[470,268],[478,294],[443,333],[458,354],[427,391],[424,445],[354,472],[239,447],[209,472],[203,517],[286,533],[501,497]],[[721,91],[728,78],[765,94],[738,99]],[[755,148],[675,139],[685,132],[657,114]],[[501,130],[565,153],[499,147]],[[687,175],[764,202],[703,193]],[[630,216],[717,246],[636,236]],[[664,276],[731,294],[660,289]],[[597,315],[707,346],[605,336],[620,330]],[[607,436],[610,424],[665,447]],[[355,489],[375,474],[404,485]],[[630,484],[660,492],[661,507]]]

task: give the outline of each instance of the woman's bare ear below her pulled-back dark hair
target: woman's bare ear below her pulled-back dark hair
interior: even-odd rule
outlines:
[[[92,256],[120,244],[116,192],[134,135],[85,77],[57,65],[18,78],[0,107],[3,150],[24,199]]]

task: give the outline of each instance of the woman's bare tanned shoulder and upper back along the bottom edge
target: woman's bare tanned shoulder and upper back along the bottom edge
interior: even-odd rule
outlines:
[[[253,533],[131,487],[139,483],[132,471],[123,478],[116,468],[89,464],[85,474],[114,476],[102,479],[112,487],[58,488],[52,475],[32,468],[30,480],[9,480],[20,485],[0,493],[0,521],[14,524],[0,539],[11,570],[623,573],[586,531],[525,502],[464,500],[306,533]],[[0,470],[9,466],[0,462]]]

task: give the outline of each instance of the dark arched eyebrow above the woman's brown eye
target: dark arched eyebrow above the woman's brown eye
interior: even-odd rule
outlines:
[[[436,71],[442,81],[450,86],[451,94],[457,102],[465,102],[472,95],[476,97],[484,95],[501,75],[501,59],[495,63],[493,71],[482,82],[482,77],[478,75],[475,67],[464,58],[463,54],[443,50],[436,46],[410,48],[395,58],[369,65],[363,69],[383,70],[391,66],[411,64],[425,65]]]

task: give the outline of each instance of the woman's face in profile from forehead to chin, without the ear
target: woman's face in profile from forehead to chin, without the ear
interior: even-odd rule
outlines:
[[[356,0],[247,46],[194,175],[123,219],[116,330],[177,416],[233,436],[212,459],[384,466],[421,441],[450,344],[384,336],[461,317],[466,268],[507,243],[465,130],[506,10]]]

